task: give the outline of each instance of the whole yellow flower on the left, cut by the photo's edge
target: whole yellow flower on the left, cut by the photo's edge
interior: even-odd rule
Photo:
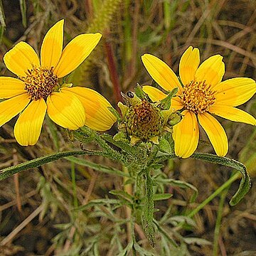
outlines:
[[[46,33],[40,60],[23,41],[4,55],[6,67],[18,78],[0,77],[0,99],[4,99],[0,102],[0,126],[21,112],[14,136],[23,146],[38,141],[46,111],[53,122],[68,129],[87,125],[105,131],[116,121],[107,109],[110,103],[99,93],[58,83],[87,58],[102,37],[84,33],[63,49],[63,26],[64,20],[60,20]]]

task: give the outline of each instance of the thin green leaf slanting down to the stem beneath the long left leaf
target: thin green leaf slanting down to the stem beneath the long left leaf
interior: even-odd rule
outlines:
[[[91,161],[87,161],[86,159],[80,159],[80,158],[75,157],[75,156],[68,156],[65,159],[67,159],[68,161],[71,161],[75,164],[79,164],[80,166],[87,166],[87,167],[90,167],[90,168],[94,169],[95,171],[100,171],[100,172],[103,172],[105,174],[112,174],[112,175],[115,175],[115,176],[122,176],[122,177],[131,178],[131,176],[129,174],[126,174],[123,171],[119,171],[118,169],[114,169],[112,167],[107,167],[107,166],[104,166],[102,164],[95,164],[95,163],[92,163]]]

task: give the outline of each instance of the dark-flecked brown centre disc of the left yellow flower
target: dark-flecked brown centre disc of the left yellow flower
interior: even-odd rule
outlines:
[[[27,71],[26,75],[21,80],[25,82],[24,89],[31,95],[32,100],[40,98],[46,100],[58,85],[58,78],[53,74],[53,67],[50,69],[33,67]]]

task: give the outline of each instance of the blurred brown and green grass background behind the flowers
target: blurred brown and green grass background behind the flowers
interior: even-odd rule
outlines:
[[[137,82],[151,83],[140,59],[143,53],[158,56],[177,72],[181,54],[192,45],[201,50],[201,60],[217,53],[224,56],[224,79],[256,78],[255,0],[2,0],[1,4],[1,59],[18,41],[30,43],[39,52],[46,31],[61,18],[65,18],[65,43],[79,33],[100,31],[103,38],[99,45],[68,80],[94,88],[114,107],[121,100],[120,91],[133,90]],[[10,75],[3,62],[0,69],[1,75]],[[256,98],[240,108],[256,117]],[[247,166],[253,183],[255,128],[219,120],[228,134],[228,157]],[[36,146],[18,146],[13,137],[14,122],[15,118],[0,128],[0,169],[79,148],[79,144],[70,141],[65,129],[49,119]],[[113,127],[110,134],[116,131],[117,127]],[[198,151],[213,152],[203,131],[201,138]],[[117,168],[117,164],[100,157],[87,159]],[[193,191],[166,184],[164,191],[174,196],[156,203],[156,219],[167,210],[171,217],[186,215],[230,176],[230,170],[224,167],[195,159],[169,161],[161,171],[169,178],[193,184],[199,195],[194,203],[189,203]],[[92,199],[114,198],[108,191],[122,190],[123,182],[119,176],[102,174],[67,160],[1,181],[0,255],[117,255],[119,248],[127,245],[130,232],[122,222],[127,218],[126,209],[88,206],[74,212],[73,208]],[[183,238],[204,239],[186,240],[183,255],[212,255],[213,240],[218,244],[218,255],[256,255],[255,186],[238,206],[231,208],[228,201],[237,188],[238,182],[233,183],[225,196],[214,198],[194,216],[194,223],[178,231]],[[223,209],[218,207],[221,200]],[[175,221],[178,219],[166,221],[166,233],[176,232]],[[157,242],[156,248],[151,249],[139,225],[135,230],[139,245],[154,255],[169,255],[161,251]]]

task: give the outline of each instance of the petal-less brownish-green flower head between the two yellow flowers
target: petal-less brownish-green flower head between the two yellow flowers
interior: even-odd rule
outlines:
[[[122,102],[118,103],[122,113],[119,131],[130,138],[132,145],[137,142],[159,144],[159,137],[165,131],[171,132],[172,126],[181,121],[181,115],[174,112],[170,106],[166,109],[166,104],[161,101],[153,103],[146,95],[139,94],[139,96],[142,98],[134,92],[127,92],[126,95],[122,93],[125,105]]]

